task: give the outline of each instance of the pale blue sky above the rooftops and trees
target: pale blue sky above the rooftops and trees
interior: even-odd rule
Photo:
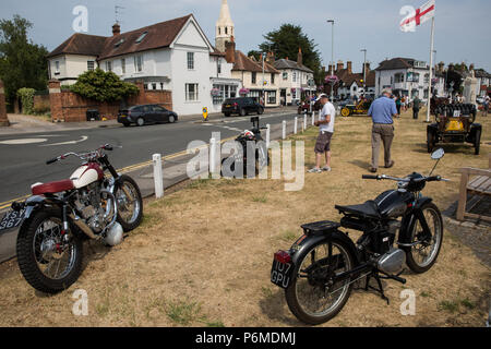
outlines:
[[[88,9],[88,34],[111,35],[115,5],[124,7],[120,14],[122,32],[193,13],[214,43],[215,22],[220,0],[1,0],[0,17],[17,13],[34,23],[31,37],[49,50],[73,34],[73,8]],[[262,35],[283,23],[301,25],[319,45],[323,64],[331,61],[331,25],[335,24],[335,61],[354,61],[361,70],[363,53],[372,68],[385,58],[410,57],[429,61],[430,23],[416,33],[402,33],[398,23],[404,5],[416,8],[426,0],[228,0],[236,24],[238,49],[246,53],[256,49]],[[491,72],[489,0],[436,0],[436,61],[475,63]],[[486,34],[488,33],[488,34]]]

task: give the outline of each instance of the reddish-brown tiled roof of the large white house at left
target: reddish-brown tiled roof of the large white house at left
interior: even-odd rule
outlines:
[[[101,60],[168,47],[190,17],[192,17],[192,14],[110,37],[74,34],[49,53],[48,57],[67,53],[89,55],[97,56]],[[136,43],[144,34],[143,39]]]

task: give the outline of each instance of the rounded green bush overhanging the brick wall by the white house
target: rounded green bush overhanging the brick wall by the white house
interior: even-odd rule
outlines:
[[[134,84],[125,83],[115,73],[101,69],[83,73],[70,89],[82,97],[98,101],[117,101],[139,93]]]

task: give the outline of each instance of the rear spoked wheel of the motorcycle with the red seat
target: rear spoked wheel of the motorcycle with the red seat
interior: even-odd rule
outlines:
[[[82,273],[82,239],[63,230],[59,212],[37,212],[20,230],[16,249],[22,275],[41,292],[68,289]]]

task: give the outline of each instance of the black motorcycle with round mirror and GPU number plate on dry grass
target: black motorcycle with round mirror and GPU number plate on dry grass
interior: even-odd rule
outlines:
[[[432,154],[439,161],[443,156],[443,149]],[[336,205],[344,215],[340,224],[304,225],[304,234],[289,251],[275,253],[271,280],[285,289],[288,306],[300,321],[318,325],[333,318],[348,301],[352,285],[363,278],[366,290],[378,291],[388,302],[381,279],[405,284],[400,277],[405,264],[417,274],[433,266],[442,246],[443,220],[421,191],[428,182],[447,180],[431,173],[363,176],[397,181],[397,189],[362,205]],[[363,234],[354,243],[342,227]],[[372,278],[378,288],[370,286]]]

